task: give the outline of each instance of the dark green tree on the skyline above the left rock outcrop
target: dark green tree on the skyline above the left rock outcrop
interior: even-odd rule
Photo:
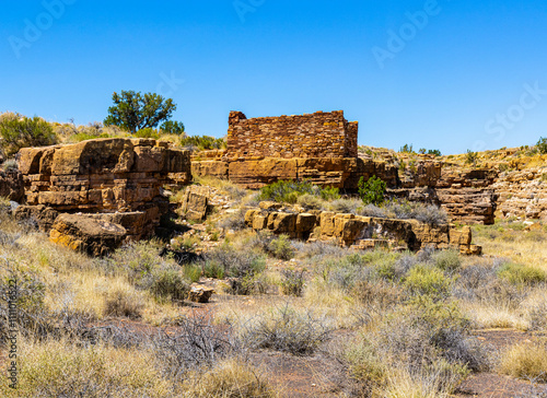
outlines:
[[[173,99],[163,96],[135,91],[121,91],[112,95],[114,106],[108,108],[105,126],[119,126],[131,132],[143,128],[155,128],[162,121],[171,118],[176,105]]]

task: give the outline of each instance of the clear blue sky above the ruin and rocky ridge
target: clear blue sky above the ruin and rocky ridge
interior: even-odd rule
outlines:
[[[0,112],[88,124],[136,90],[173,97],[190,134],[344,109],[392,149],[547,136],[545,0],[9,1],[0,31]]]

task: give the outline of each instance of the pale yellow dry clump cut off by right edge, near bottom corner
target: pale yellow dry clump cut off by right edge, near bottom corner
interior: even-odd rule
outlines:
[[[524,342],[502,354],[499,372],[513,377],[547,383],[547,346],[545,342]]]

